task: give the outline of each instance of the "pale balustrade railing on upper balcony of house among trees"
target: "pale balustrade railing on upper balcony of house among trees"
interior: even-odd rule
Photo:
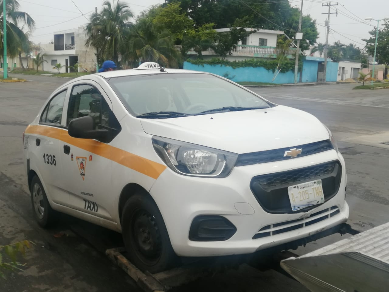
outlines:
[[[182,46],[176,45],[176,50],[181,50]],[[294,56],[296,55],[296,48],[290,47],[287,51],[283,52],[282,49],[277,47],[267,47],[267,46],[248,46],[248,45],[237,45],[237,47],[232,51],[233,56],[254,56],[254,57],[264,57],[264,58],[275,58],[276,55],[285,53],[286,55]],[[188,55],[195,55],[196,52],[193,49],[189,50]],[[216,55],[213,49],[209,48],[206,51],[202,52],[203,55]]]

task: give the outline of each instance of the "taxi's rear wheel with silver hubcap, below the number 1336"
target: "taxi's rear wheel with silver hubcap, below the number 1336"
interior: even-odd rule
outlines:
[[[38,176],[34,176],[30,185],[31,205],[35,220],[41,227],[47,228],[58,221],[58,212],[51,209],[46,192]]]

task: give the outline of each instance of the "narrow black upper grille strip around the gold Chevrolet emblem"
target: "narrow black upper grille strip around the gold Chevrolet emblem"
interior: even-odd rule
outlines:
[[[300,146],[293,146],[289,148],[280,148],[274,150],[244,153],[244,154],[239,154],[235,166],[244,166],[244,165],[280,161],[280,160],[288,160],[291,158],[289,156],[284,157],[284,154],[286,151],[290,151],[292,148],[302,149],[301,154],[299,154],[298,157],[304,157],[304,156],[334,149],[331,144],[331,141],[324,140],[324,141],[304,144]]]

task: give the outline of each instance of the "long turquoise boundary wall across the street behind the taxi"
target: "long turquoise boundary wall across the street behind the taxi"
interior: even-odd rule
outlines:
[[[324,60],[324,59],[323,59]],[[317,82],[317,67],[320,61],[316,60],[304,60],[303,72],[301,82]],[[338,66],[337,62],[327,63],[327,81],[336,81],[338,77]],[[184,62],[184,69],[196,70],[213,73],[219,76],[223,76],[225,73],[230,74],[230,79],[235,82],[268,82],[275,84],[283,83],[294,83],[294,72],[289,71],[286,73],[279,73],[272,81],[275,73],[266,70],[263,67],[242,67],[232,68],[224,65],[194,65],[189,62]],[[300,77],[300,76],[299,76]]]

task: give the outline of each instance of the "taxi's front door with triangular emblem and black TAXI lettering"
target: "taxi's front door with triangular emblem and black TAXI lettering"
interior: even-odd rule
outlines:
[[[97,83],[76,84],[70,90],[67,125],[74,118],[92,116],[95,128],[109,126],[112,104]],[[112,220],[112,143],[73,138],[67,131],[61,141],[63,188],[69,193],[68,206]]]

